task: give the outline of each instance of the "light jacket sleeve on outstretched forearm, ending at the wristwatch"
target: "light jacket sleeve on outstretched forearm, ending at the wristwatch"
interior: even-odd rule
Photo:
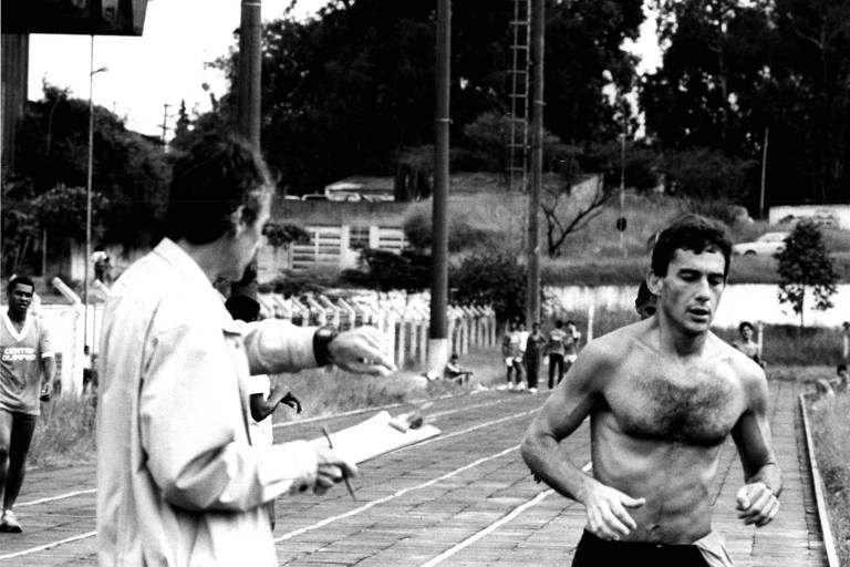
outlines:
[[[245,348],[251,374],[279,374],[315,368],[313,334],[318,327],[297,327],[281,319],[246,326]]]

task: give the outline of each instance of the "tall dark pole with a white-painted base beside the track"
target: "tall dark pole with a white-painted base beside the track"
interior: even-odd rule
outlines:
[[[428,370],[443,374],[448,362],[448,143],[452,76],[452,0],[437,0],[436,111],[434,113],[434,208],[431,269]]]

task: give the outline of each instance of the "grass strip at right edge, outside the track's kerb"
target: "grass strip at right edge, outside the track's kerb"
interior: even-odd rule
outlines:
[[[831,369],[830,369],[831,370]],[[832,372],[823,375],[832,375]],[[811,404],[815,453],[826,485],[829,524],[841,565],[850,565],[850,394]]]

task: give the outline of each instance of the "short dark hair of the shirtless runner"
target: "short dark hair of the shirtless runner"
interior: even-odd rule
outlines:
[[[666,276],[670,261],[680,249],[694,254],[721,252],[724,259],[723,276],[729,275],[732,240],[726,228],[717,220],[701,215],[684,215],[675,219],[659,235],[652,250],[652,271],[662,278]]]

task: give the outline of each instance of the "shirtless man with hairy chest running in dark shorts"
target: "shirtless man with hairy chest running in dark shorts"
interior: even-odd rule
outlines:
[[[730,250],[703,217],[667,227],[646,276],[655,317],[588,344],[526,433],[535,475],[587,507],[573,566],[732,565],[709,494],[729,434],[745,476],[738,517],[760,527],[779,509],[765,373],[709,330]],[[558,446],[588,416],[592,476]]]

